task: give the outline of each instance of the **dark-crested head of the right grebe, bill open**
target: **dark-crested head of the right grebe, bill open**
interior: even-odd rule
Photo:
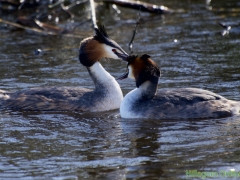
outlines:
[[[150,81],[153,84],[158,83],[160,69],[157,64],[150,59],[149,55],[143,54],[141,57],[131,55],[127,58],[122,58],[122,60],[128,62],[127,72],[118,79],[133,78],[136,81],[137,87],[146,81]]]

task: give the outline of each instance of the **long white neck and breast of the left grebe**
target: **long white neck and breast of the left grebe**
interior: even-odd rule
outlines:
[[[107,109],[106,107],[108,107],[108,110],[119,108],[123,94],[115,78],[99,62],[94,63],[87,69],[95,84],[94,91],[104,96],[104,101],[99,102],[98,108]]]

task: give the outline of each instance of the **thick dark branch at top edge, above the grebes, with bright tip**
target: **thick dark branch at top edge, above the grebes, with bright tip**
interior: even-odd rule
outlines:
[[[126,0],[103,0],[103,2],[116,4],[126,8],[132,8],[136,10],[141,10],[145,12],[155,13],[155,14],[166,14],[172,13],[173,10],[166,6],[158,6],[155,4],[145,3],[141,1],[126,1]]]

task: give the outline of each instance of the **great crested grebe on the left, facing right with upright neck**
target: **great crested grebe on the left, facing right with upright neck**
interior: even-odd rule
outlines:
[[[95,28],[95,35],[82,40],[79,49],[80,63],[87,68],[95,84],[94,90],[81,87],[36,87],[15,93],[0,91],[0,107],[24,111],[81,112],[117,109],[123,99],[122,91],[99,60],[127,56],[128,54],[108,37],[103,26]]]

